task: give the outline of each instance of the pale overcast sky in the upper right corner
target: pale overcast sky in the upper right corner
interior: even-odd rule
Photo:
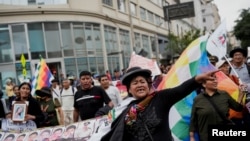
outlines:
[[[250,8],[250,0],[214,0],[214,3],[219,9],[221,21],[226,20],[228,31],[233,30],[241,10]]]

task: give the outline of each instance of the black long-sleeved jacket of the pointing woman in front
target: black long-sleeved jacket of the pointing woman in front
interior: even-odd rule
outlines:
[[[138,114],[137,121],[132,126],[125,125],[124,119],[131,105],[139,103],[139,100],[132,101],[111,125],[111,131],[104,135],[101,141],[151,141],[149,130],[154,141],[172,141],[169,128],[170,108],[182,98],[189,95],[198,88],[194,78],[191,78],[181,85],[156,92],[145,110]]]

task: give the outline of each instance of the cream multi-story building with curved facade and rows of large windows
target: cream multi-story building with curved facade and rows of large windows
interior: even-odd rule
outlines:
[[[22,54],[28,78],[40,56],[57,77],[113,73],[128,67],[133,51],[159,61],[176,27],[164,21],[167,4],[175,1],[0,0],[0,86],[8,78],[20,83]]]

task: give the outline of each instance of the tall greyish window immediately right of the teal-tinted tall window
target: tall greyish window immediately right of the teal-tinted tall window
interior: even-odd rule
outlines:
[[[44,23],[44,30],[48,58],[62,57],[58,23]]]

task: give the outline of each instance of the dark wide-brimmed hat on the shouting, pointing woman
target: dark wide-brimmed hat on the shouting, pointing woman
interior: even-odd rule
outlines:
[[[123,85],[129,85],[130,81],[132,80],[132,77],[135,76],[151,76],[151,71],[148,69],[142,69],[141,67],[131,67],[129,68],[126,73],[121,78],[121,82]]]

